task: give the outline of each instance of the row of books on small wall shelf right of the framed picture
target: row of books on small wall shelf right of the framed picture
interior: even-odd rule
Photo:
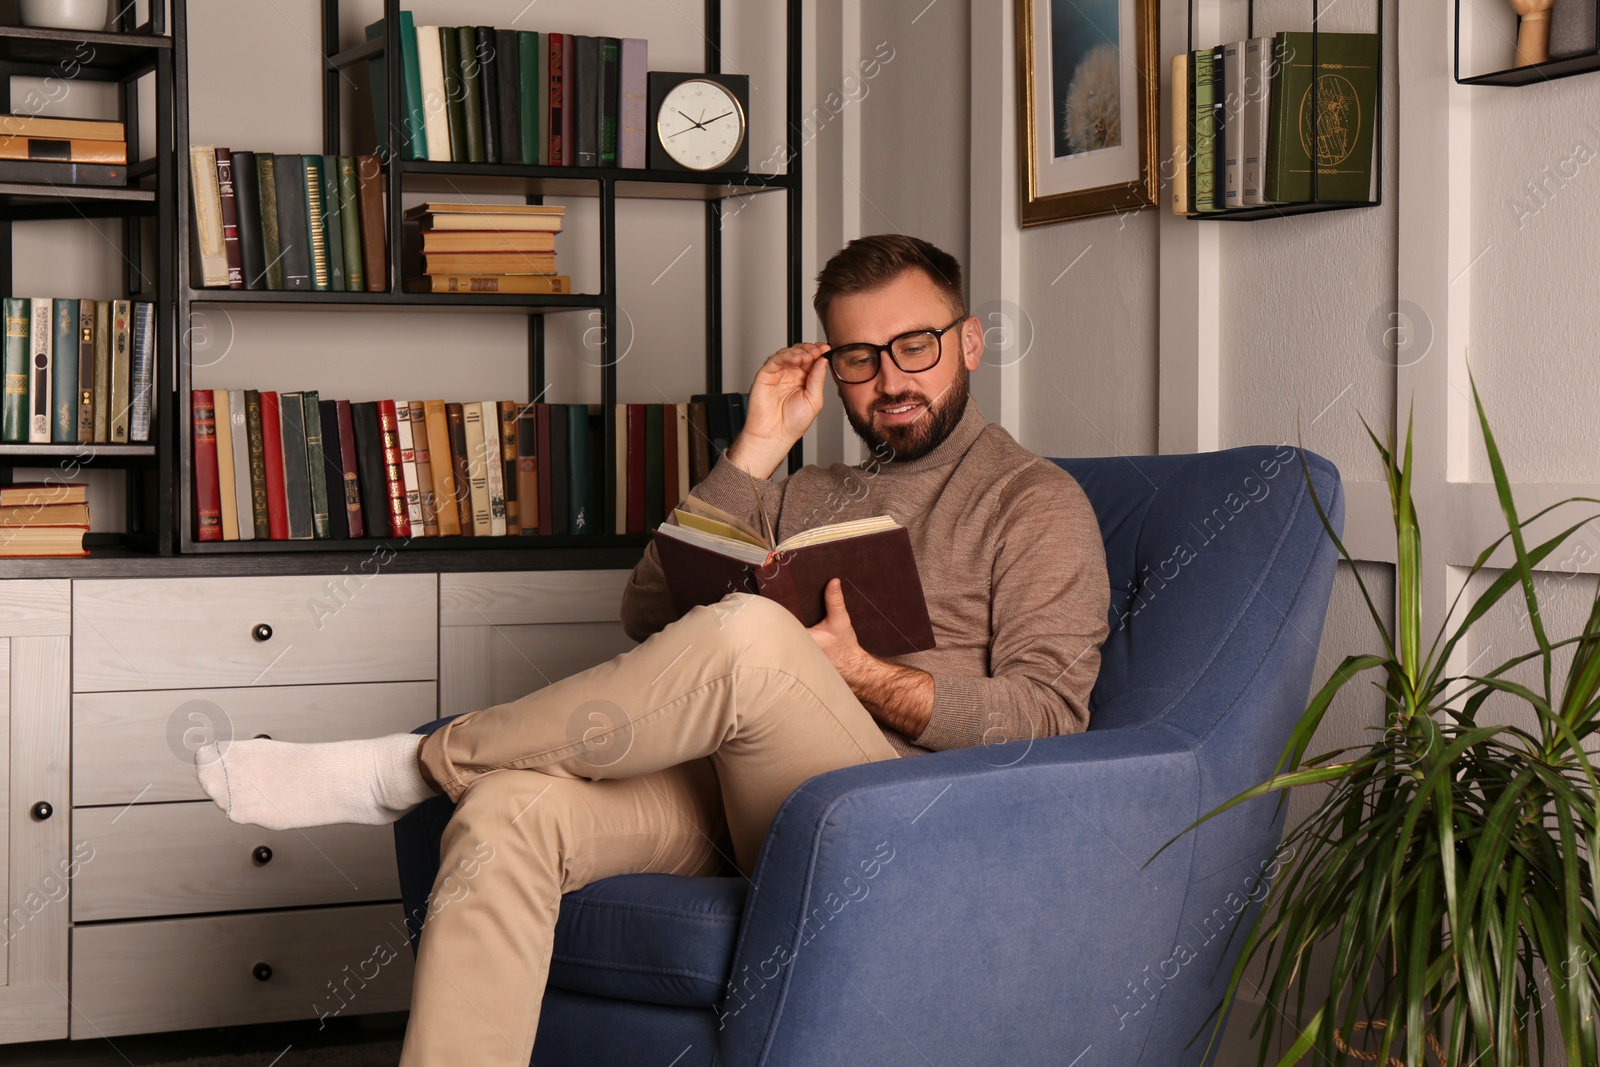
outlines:
[[[1371,200],[1376,34],[1253,37],[1173,56],[1173,213]],[[1315,115],[1312,104],[1315,102]]]

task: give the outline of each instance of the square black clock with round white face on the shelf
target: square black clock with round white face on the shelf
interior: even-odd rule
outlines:
[[[744,171],[750,78],[744,74],[650,72],[650,166]]]

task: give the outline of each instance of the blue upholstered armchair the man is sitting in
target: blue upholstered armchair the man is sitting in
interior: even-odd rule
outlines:
[[[754,881],[568,893],[538,1067],[1208,1062],[1190,1037],[1278,870],[1278,808],[1243,805],[1146,861],[1272,773],[1336,555],[1290,448],[1056,462],[1110,566],[1088,733],[819,774],[779,809]],[[1307,462],[1339,523],[1338,470]],[[408,915],[450,811],[437,798],[395,825]]]

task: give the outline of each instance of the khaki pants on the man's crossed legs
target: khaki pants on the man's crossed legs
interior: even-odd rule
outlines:
[[[421,752],[458,806],[402,1067],[526,1067],[563,893],[723,857],[749,877],[797,785],[896,755],[805,627],[750,593],[448,723]]]

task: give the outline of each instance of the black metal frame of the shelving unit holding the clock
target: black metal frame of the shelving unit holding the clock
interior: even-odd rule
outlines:
[[[187,19],[186,0],[173,2],[174,37],[186,40]],[[722,5],[720,0],[704,0],[706,10],[706,70],[717,72],[722,54]],[[651,170],[624,170],[614,166],[526,166],[514,163],[440,163],[429,160],[402,158],[400,146],[378,146],[384,163],[384,182],[387,190],[386,216],[389,224],[389,278],[382,293],[282,293],[282,291],[238,291],[238,290],[197,290],[189,285],[187,274],[187,240],[181,243],[181,274],[178,288],[179,318],[187,322],[190,310],[197,306],[248,306],[272,309],[384,309],[384,310],[482,310],[488,314],[520,314],[528,318],[528,398],[534,400],[544,394],[547,386],[544,318],[550,314],[571,310],[598,312],[603,323],[602,333],[602,366],[600,366],[600,405],[603,411],[605,434],[605,501],[610,512],[610,501],[616,498],[614,485],[614,432],[618,402],[618,240],[616,240],[616,202],[619,198],[651,198],[651,200],[701,200],[706,203],[706,392],[723,389],[723,352],[722,352],[722,202],[730,197],[746,197],[755,194],[787,195],[789,213],[786,227],[787,243],[787,336],[789,344],[800,339],[802,328],[802,277],[800,277],[800,0],[786,0],[787,26],[787,101],[786,101],[786,147],[787,168],[781,174],[752,173],[678,173]],[[323,152],[341,154],[341,72],[358,62],[365,62],[378,54],[400,54],[398,26],[400,0],[384,0],[384,35],[362,42],[352,48],[341,48],[339,32],[339,0],[322,2],[322,45],[323,45]],[[187,152],[189,144],[189,72],[187,54],[179,45],[178,51],[178,144],[179,155]],[[398,62],[387,64],[387,114],[403,115],[403,70]],[[376,90],[374,90],[376,91]],[[392,136],[390,130],[390,136]],[[379,134],[382,136],[382,134]],[[362,149],[363,152],[368,149]],[[349,155],[352,152],[344,150]],[[442,192],[450,195],[501,194],[518,195],[526,203],[541,203],[544,197],[595,197],[600,214],[600,291],[579,293],[570,296],[520,296],[520,294],[413,294],[402,290],[402,264],[397,237],[402,232],[402,195],[418,192]],[[178,219],[181,226],[189,224],[189,192],[187,182],[178,184]],[[186,234],[184,234],[186,237]],[[190,389],[190,354],[179,352],[178,360],[178,395],[187,397]],[[182,418],[181,440],[178,442],[178,486],[174,499],[174,515],[179,531],[179,550],[182,553],[349,553],[394,549],[406,552],[408,558],[429,552],[482,552],[486,565],[515,568],[541,568],[547,565],[573,566],[632,566],[638,558],[638,550],[648,542],[645,536],[590,534],[590,536],[502,536],[502,537],[387,537],[387,539],[349,539],[349,541],[234,541],[234,542],[198,542],[194,539],[194,501],[189,470],[192,469],[189,445],[189,413],[187,405],[181,405]],[[789,470],[800,467],[802,448],[789,458]],[[610,518],[610,515],[608,515]],[[541,552],[539,558],[530,550]],[[414,560],[413,560],[414,561]],[[453,565],[451,565],[453,566]]]

